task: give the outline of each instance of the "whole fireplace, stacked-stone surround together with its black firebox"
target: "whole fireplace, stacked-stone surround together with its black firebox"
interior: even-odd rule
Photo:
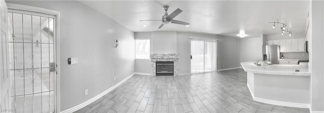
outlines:
[[[180,54],[150,54],[151,75],[178,75]],[[173,65],[171,65],[173,64]],[[173,70],[170,67],[173,66]],[[158,69],[157,69],[158,68]],[[160,70],[156,73],[156,70]],[[173,71],[173,73],[172,73]]]

